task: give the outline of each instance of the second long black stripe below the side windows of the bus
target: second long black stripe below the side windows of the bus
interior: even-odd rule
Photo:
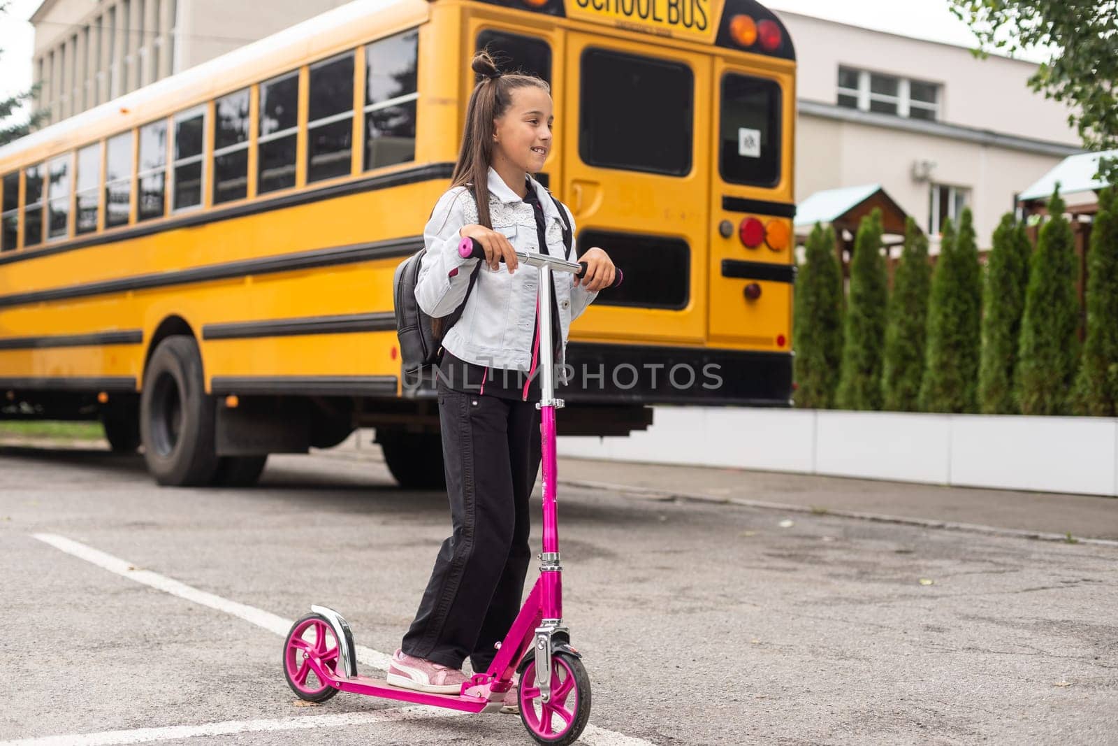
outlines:
[[[152,287],[169,287],[171,285],[186,285],[189,283],[209,282],[211,280],[229,280],[247,275],[274,274],[277,272],[370,262],[373,259],[408,256],[419,251],[421,246],[423,236],[409,236],[369,244],[316,248],[297,254],[281,254],[278,256],[265,256],[256,259],[241,259],[226,264],[179,270],[178,272],[157,272],[121,280],[105,280],[82,285],[69,285],[68,287],[54,287],[51,290],[37,290],[29,293],[0,295],[0,308],[72,298],[89,298],[91,295],[106,295],[130,290],[150,290]]]

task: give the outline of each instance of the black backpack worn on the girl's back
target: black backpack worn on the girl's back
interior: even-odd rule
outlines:
[[[556,204],[559,210],[559,219],[562,223],[562,243],[567,249],[567,258],[570,259],[571,232],[567,223],[567,214],[563,211],[559,200],[550,191],[548,196]],[[458,308],[449,314],[439,319],[438,324],[419,308],[416,301],[416,281],[419,278],[419,265],[423,256],[427,253],[424,246],[418,252],[404,259],[392,276],[392,301],[396,311],[396,336],[400,340],[400,369],[404,375],[404,388],[415,389],[423,380],[433,380],[433,368],[438,366],[443,358],[443,337],[462,318],[462,312],[466,308],[466,301],[477,281],[477,272],[482,268],[479,262],[474,271],[470,273],[470,285],[466,286],[466,294],[462,299]]]

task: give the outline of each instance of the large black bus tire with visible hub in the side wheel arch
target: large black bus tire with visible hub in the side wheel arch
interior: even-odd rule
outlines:
[[[192,337],[168,337],[151,356],[140,397],[140,437],[155,482],[209,484],[217,471],[214,397],[206,394],[202,359]]]

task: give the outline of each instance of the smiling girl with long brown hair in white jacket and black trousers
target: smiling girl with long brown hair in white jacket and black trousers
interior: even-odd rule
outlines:
[[[470,96],[452,188],[424,229],[427,252],[416,283],[419,308],[436,319],[466,299],[443,337],[437,376],[453,533],[387,677],[397,687],[451,695],[467,679],[461,670],[467,657],[476,672],[492,663],[495,643],[520,611],[531,557],[528,498],[540,466],[539,303],[537,274],[517,272],[514,251],[566,256],[565,227],[569,235],[575,227],[570,210],[560,215],[530,176],[552,144],[548,84],[502,75],[485,51],[472,67],[482,78]],[[466,236],[485,248],[484,266],[458,256]],[[553,281],[557,367],[571,320],[614,281],[614,264],[600,248],[578,259],[588,265],[584,277]],[[514,687],[505,705],[515,703]]]

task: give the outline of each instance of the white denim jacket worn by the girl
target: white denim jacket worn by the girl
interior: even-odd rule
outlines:
[[[563,256],[562,224],[555,202],[536,179],[529,177],[529,180],[543,207],[547,253]],[[489,170],[489,190],[493,229],[504,234],[517,251],[540,251],[532,206],[518,197],[492,168]],[[574,236],[575,219],[566,206],[563,209]],[[416,301],[425,313],[445,317],[465,298],[470,273],[482,259],[458,256],[458,242],[462,239],[458,230],[476,223],[477,205],[465,187],[451,189],[435,205],[435,211],[423,232],[427,252],[416,281]],[[571,261],[576,261],[577,256],[577,247],[572,246]],[[483,265],[462,318],[443,336],[443,347],[474,365],[529,370],[536,328],[537,278],[536,268],[524,264],[511,275],[503,264],[498,271]],[[562,330],[562,357],[555,361],[556,365],[566,360],[571,320],[577,319],[597,295],[582,285],[572,287],[571,282],[572,275],[555,275],[556,303]]]

